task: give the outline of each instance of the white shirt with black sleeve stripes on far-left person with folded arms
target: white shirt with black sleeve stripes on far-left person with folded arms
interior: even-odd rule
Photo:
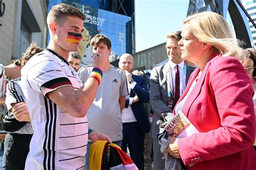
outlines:
[[[8,88],[6,89],[6,98],[5,104],[8,110],[12,108],[12,103],[19,103],[24,102],[24,95],[21,90],[21,77],[17,79],[12,79],[8,82]],[[12,112],[10,113],[12,114]],[[19,133],[19,134],[33,134],[33,129],[30,122],[27,122],[21,129],[12,132],[12,133]]]

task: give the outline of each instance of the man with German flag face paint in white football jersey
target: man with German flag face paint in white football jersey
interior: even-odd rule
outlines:
[[[102,79],[103,56],[93,54],[84,84],[67,61],[82,39],[84,19],[71,5],[53,6],[47,17],[49,46],[22,69],[21,87],[34,131],[25,169],[80,169],[88,138],[111,143],[88,129],[86,117]]]

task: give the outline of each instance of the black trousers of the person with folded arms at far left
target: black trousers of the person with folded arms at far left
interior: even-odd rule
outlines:
[[[32,134],[7,133],[4,140],[3,169],[24,169]]]

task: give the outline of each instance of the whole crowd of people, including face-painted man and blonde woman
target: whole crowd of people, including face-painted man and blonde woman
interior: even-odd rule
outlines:
[[[96,169],[108,159],[98,140],[120,149],[113,169],[256,169],[256,52],[221,15],[197,13],[169,33],[169,61],[152,69],[150,86],[131,54],[110,64],[103,34],[91,39],[92,65],[80,67],[84,20],[71,5],[53,6],[48,47],[32,43],[0,65],[3,169]],[[180,113],[197,131],[177,138],[164,126]]]

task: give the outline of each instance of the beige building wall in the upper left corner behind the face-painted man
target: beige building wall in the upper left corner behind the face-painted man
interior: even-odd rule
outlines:
[[[31,42],[45,47],[47,6],[45,0],[2,1],[5,13],[0,17],[0,63],[5,66],[12,60],[21,58],[24,49]],[[30,30],[28,40],[22,38],[22,20]]]

